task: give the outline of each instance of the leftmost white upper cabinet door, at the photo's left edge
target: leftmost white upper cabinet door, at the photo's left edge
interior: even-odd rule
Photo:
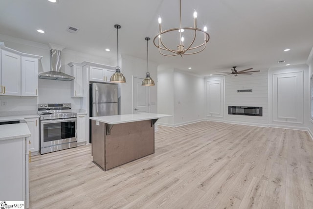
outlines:
[[[21,96],[21,56],[1,51],[1,95]]]

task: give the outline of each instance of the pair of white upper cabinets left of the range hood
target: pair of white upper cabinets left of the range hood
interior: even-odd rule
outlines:
[[[41,56],[22,53],[0,42],[0,95],[38,96],[38,60]]]

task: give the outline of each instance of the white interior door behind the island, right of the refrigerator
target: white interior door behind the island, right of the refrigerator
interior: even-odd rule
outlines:
[[[133,78],[133,113],[149,112],[149,87],[141,86],[142,78]]]

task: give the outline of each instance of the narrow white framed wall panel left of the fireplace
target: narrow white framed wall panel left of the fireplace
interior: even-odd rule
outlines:
[[[223,80],[207,81],[206,104],[207,116],[223,117]]]

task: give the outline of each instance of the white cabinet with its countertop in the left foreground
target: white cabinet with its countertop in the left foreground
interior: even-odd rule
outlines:
[[[24,201],[28,208],[29,164],[25,123],[0,126],[0,197],[4,201]]]

